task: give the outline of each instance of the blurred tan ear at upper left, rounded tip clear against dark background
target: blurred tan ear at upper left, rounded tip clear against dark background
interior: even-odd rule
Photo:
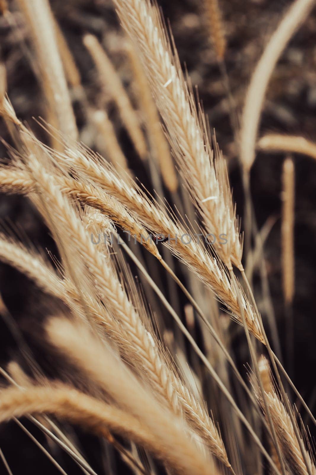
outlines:
[[[138,152],[139,156],[144,159],[147,155],[144,135],[139,126],[137,114],[133,109],[119,75],[95,36],[85,35],[83,43],[85,47],[88,48],[90,55],[95,62],[101,84],[109,91],[117,104],[122,122],[126,126],[127,132],[133,141],[135,150]]]

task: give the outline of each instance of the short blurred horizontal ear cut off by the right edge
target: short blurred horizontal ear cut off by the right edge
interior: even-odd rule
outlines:
[[[316,143],[305,137],[269,133],[261,137],[257,149],[262,152],[302,153],[316,160]]]

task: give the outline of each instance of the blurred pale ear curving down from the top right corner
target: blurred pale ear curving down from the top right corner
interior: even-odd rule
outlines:
[[[255,159],[255,144],[260,116],[271,74],[289,40],[307,18],[314,5],[314,0],[292,2],[289,10],[271,36],[253,72],[244,102],[240,134],[240,159],[247,171],[250,171]]]

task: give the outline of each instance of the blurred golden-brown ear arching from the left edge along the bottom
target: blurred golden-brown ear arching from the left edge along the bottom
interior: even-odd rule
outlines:
[[[206,462],[199,452],[194,451],[192,443],[178,428],[173,428],[169,436],[170,444],[166,444],[139,418],[67,386],[31,387],[23,391],[9,388],[1,391],[1,422],[13,417],[23,417],[29,413],[52,414],[57,418],[80,424],[101,437],[110,437],[109,430],[111,430],[147,448],[179,474],[214,473],[208,466],[209,462]],[[179,441],[181,447],[178,446]]]

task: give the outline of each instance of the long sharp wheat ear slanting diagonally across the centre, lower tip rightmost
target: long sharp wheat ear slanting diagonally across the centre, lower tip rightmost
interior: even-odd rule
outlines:
[[[98,183],[104,190],[115,196],[137,217],[146,228],[151,229],[156,234],[170,237],[165,243],[172,253],[182,260],[194,272],[205,285],[208,285],[217,295],[217,298],[225,303],[232,312],[233,317],[241,323],[240,309],[231,281],[226,274],[225,268],[220,260],[212,258],[209,253],[192,236],[191,231],[181,227],[179,222],[175,223],[169,215],[156,203],[141,192],[136,190],[136,185],[132,181],[126,182],[113,168],[103,162],[101,166],[92,152],[81,147],[79,144],[72,144],[72,148],[67,148],[64,153],[51,150],[54,159],[62,166],[66,166],[70,171],[78,173],[79,176],[89,177]],[[189,234],[188,234],[189,233]],[[181,239],[183,236],[189,238]],[[187,241],[189,241],[187,243]],[[258,340],[263,342],[262,333],[253,308],[249,304],[242,287],[239,285],[242,294],[242,302],[248,328]]]

